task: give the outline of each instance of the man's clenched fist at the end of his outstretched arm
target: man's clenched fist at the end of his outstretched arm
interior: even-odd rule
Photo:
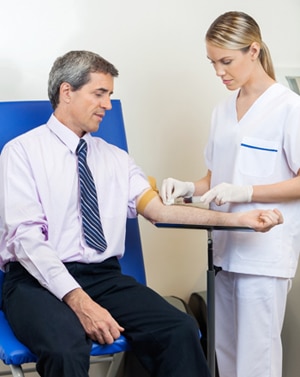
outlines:
[[[248,212],[235,213],[239,217],[241,226],[253,228],[257,232],[267,232],[273,226],[283,223],[283,216],[278,209],[255,209]]]

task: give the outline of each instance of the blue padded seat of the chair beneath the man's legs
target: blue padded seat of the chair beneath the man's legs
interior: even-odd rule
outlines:
[[[25,363],[36,362],[37,357],[18,341],[11,330],[4,313],[0,311],[0,359],[7,365],[20,365]],[[118,352],[128,351],[130,346],[123,335],[121,335],[113,344],[101,345],[93,343],[91,356],[110,355]]]

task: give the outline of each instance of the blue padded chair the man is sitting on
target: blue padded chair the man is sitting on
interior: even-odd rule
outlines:
[[[113,109],[106,113],[96,135],[127,150],[121,102],[120,100],[112,100],[112,105]],[[0,151],[4,144],[12,138],[44,124],[51,113],[52,107],[49,101],[0,102]],[[140,283],[146,284],[137,219],[127,220],[125,256],[121,259],[121,266],[125,274],[132,275]],[[0,376],[23,377],[24,373],[32,372],[35,369],[22,368],[22,364],[34,363],[36,356],[14,336],[2,311],[3,278],[4,273],[0,271],[0,359],[10,366],[10,371],[0,372]],[[93,362],[93,359],[96,359],[96,362],[109,361],[110,367],[106,376],[115,376],[120,367],[123,352],[129,349],[129,344],[124,336],[121,336],[112,345],[93,343],[91,362]],[[96,358],[93,358],[95,356]]]

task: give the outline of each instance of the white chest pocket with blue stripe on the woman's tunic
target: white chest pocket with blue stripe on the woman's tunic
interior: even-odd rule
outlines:
[[[254,177],[273,174],[279,145],[276,141],[245,137],[240,144],[239,170]]]

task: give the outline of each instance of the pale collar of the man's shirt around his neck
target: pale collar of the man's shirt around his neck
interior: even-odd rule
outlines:
[[[72,130],[61,123],[54,114],[49,118],[47,126],[70,149],[71,152],[76,153],[80,138]],[[85,139],[88,144],[90,138],[91,135],[89,133],[83,136],[83,139]]]

